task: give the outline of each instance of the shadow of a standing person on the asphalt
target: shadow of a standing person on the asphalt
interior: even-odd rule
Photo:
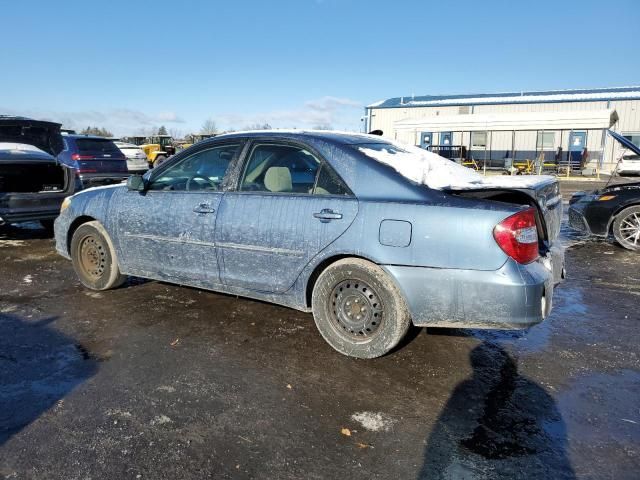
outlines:
[[[553,398],[495,343],[475,347],[470,362],[471,377],[455,388],[427,440],[418,478],[575,478]]]

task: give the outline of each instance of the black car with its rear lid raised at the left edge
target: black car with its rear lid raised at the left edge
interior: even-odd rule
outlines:
[[[75,172],[58,163],[60,124],[0,115],[0,225],[39,220],[50,226],[75,189]]]

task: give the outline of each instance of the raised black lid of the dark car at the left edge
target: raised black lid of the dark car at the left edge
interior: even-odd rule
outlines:
[[[63,149],[60,124],[0,115],[0,142],[33,145],[54,157]]]

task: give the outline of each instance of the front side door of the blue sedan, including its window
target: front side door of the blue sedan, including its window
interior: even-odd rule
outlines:
[[[117,204],[126,273],[202,285],[220,283],[215,225],[222,182],[238,143],[202,149],[151,176]]]

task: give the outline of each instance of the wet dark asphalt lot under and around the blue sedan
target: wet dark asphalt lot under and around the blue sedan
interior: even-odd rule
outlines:
[[[90,292],[43,230],[1,229],[0,477],[638,478],[640,256],[564,236],[544,323],[354,360],[286,308]]]

